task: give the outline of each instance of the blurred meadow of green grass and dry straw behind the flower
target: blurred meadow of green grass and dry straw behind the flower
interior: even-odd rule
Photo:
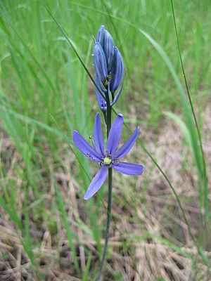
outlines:
[[[115,110],[140,126],[126,159],[146,171],[114,173],[102,280],[211,280],[211,4],[173,3],[205,162],[171,1],[0,1],[0,280],[94,280],[103,251],[107,183],[83,200],[98,167],[72,143],[92,133],[94,85],[44,4],[91,74],[106,26],[127,70]]]

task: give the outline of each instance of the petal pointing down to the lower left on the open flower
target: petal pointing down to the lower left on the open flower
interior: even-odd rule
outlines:
[[[102,166],[100,171],[96,174],[96,176],[91,181],[87,193],[84,195],[84,200],[89,200],[103,185],[104,181],[106,181],[108,168],[106,166]]]

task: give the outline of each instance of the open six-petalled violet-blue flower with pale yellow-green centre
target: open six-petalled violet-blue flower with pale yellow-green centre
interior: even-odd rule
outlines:
[[[73,141],[76,147],[90,160],[97,162],[101,169],[91,181],[84,200],[89,200],[106,181],[107,170],[112,167],[125,175],[139,176],[143,174],[144,166],[141,164],[132,164],[127,162],[120,162],[127,153],[132,149],[137,136],[139,135],[139,127],[128,140],[118,149],[120,145],[120,138],[122,134],[122,124],[124,118],[122,114],[118,114],[111,126],[108,141],[106,145],[106,153],[104,150],[103,131],[101,127],[101,119],[99,114],[96,114],[93,129],[93,144],[89,145],[87,141],[77,132],[73,131]]]

